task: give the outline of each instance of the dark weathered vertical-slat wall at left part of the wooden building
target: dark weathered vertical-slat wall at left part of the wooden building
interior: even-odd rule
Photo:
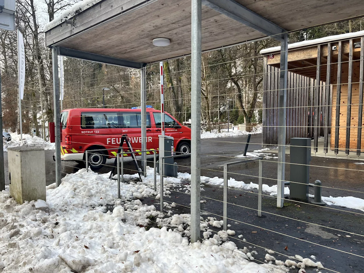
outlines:
[[[263,78],[263,131],[262,141],[265,147],[278,144],[278,93],[279,93],[279,68],[266,65],[264,61]],[[286,144],[290,138],[314,137],[314,91],[316,80],[293,72],[288,72],[287,77],[287,110],[286,110]],[[321,112],[319,135],[324,135],[325,120],[325,82],[320,81],[319,107]],[[331,95],[331,94],[330,94]],[[331,103],[331,101],[330,101]],[[331,112],[331,108],[329,109]],[[331,120],[331,115],[328,117]],[[329,123],[330,124],[330,123]]]

